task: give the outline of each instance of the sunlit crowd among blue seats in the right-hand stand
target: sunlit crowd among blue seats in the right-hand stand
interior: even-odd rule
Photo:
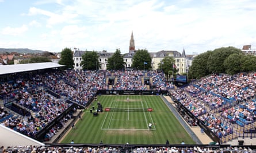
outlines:
[[[222,138],[256,121],[255,85],[255,73],[212,74],[170,93]]]

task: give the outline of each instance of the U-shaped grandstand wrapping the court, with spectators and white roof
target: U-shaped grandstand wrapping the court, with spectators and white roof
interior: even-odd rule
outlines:
[[[167,95],[183,119],[191,127],[200,127],[213,142],[251,148],[256,145],[255,73],[212,74],[174,89],[161,72],[58,69],[62,66],[44,63],[22,64],[18,69],[0,67],[0,99],[4,107],[1,133],[13,132],[22,135],[22,142],[28,142],[17,144],[5,136],[1,137],[1,142],[6,142],[3,146],[44,146],[41,142],[53,142],[51,145],[55,146],[56,134],[68,130],[79,114],[77,110],[87,108],[98,94],[131,93]],[[6,132],[6,127],[13,131]]]

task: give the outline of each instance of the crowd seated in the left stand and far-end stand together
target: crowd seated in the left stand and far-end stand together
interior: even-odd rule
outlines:
[[[153,77],[157,77],[156,73],[152,74],[154,74]],[[1,99],[13,101],[24,110],[28,109],[32,112],[30,115],[9,116],[2,120],[1,124],[33,138],[37,132],[70,107],[71,104],[66,100],[86,106],[89,100],[96,95],[97,90],[108,89],[106,78],[111,75],[112,72],[109,71],[55,70],[42,74],[15,74],[10,76],[8,81],[1,80]],[[113,75],[117,78],[116,90],[147,90],[146,85],[142,83],[142,77],[145,75],[143,71],[116,71]],[[157,81],[160,88],[165,85],[161,82],[165,81],[163,78]],[[45,89],[56,94],[51,95]],[[4,109],[0,111],[1,118],[7,115]],[[51,139],[56,131],[62,128],[68,119],[71,119],[71,116],[72,114],[68,114],[60,120],[45,135],[45,139]]]

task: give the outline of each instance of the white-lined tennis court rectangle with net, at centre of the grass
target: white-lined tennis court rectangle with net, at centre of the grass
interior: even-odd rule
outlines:
[[[105,111],[101,130],[155,130],[147,101],[112,101]]]

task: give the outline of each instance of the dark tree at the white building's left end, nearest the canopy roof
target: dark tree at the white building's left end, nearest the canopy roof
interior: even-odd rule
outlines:
[[[73,53],[72,53],[72,50],[70,48],[62,49],[62,52],[60,53],[59,64],[65,65],[65,68],[67,68],[67,69],[73,69],[74,68]]]

